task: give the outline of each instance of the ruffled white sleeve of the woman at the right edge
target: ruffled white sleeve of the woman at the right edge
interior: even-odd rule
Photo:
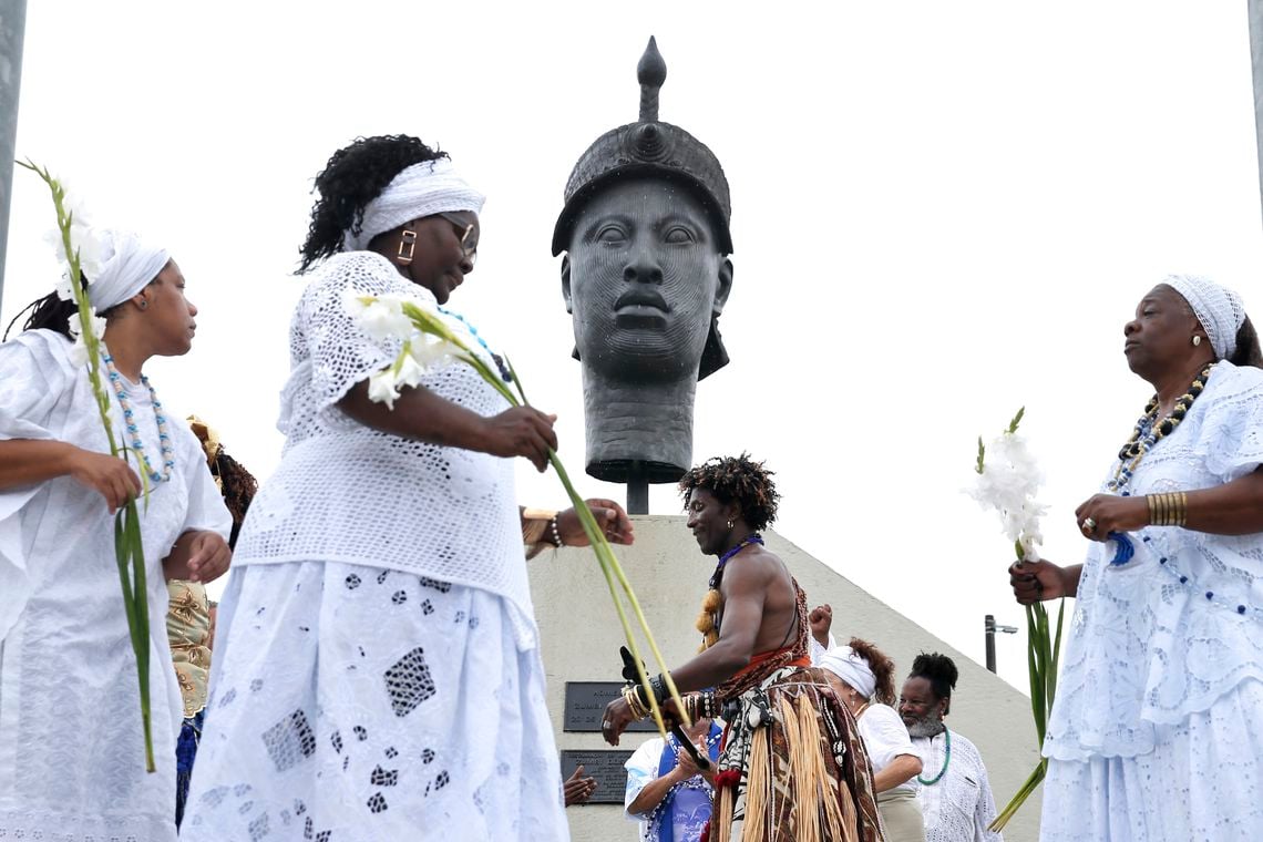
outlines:
[[[1263,371],[1221,362],[1211,376],[1221,382],[1194,452],[1221,482],[1231,482],[1263,465]]]

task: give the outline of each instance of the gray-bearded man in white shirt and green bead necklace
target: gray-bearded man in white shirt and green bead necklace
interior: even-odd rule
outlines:
[[[986,829],[995,799],[983,756],[973,742],[949,731],[956,664],[947,655],[921,653],[899,692],[899,716],[923,769],[913,780],[926,818],[926,842],[1003,842]]]

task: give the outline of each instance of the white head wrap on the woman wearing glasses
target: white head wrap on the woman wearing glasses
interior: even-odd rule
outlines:
[[[469,186],[446,158],[424,160],[390,179],[381,196],[364,208],[364,223],[357,235],[342,234],[342,247],[360,251],[373,237],[404,222],[436,213],[472,211],[480,213],[486,197]]]

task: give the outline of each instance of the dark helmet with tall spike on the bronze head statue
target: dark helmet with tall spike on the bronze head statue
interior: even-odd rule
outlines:
[[[733,254],[733,202],[727,178],[715,153],[679,126],[658,120],[658,91],[667,81],[667,63],[650,37],[637,64],[640,82],[640,119],[597,138],[575,164],[566,182],[565,206],[553,228],[552,254],[570,247],[575,222],[587,201],[621,178],[649,177],[688,189],[706,208],[720,254]],[[719,336],[717,317],[702,352],[698,379],[727,365]]]

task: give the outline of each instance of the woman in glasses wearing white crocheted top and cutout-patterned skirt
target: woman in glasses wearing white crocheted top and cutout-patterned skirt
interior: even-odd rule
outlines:
[[[182,838],[563,839],[514,463],[552,417],[465,365],[394,408],[347,295],[407,295],[495,366],[448,297],[474,269],[482,196],[416,138],[357,140],[317,177],[290,323],[285,451],[255,497],[220,606],[207,728]],[[606,531],[630,540],[615,504]],[[572,511],[547,540],[581,543]]]

